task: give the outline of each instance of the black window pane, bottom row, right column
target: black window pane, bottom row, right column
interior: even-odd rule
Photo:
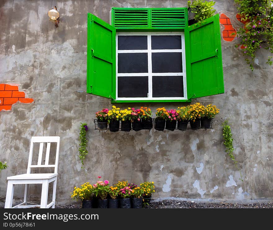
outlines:
[[[183,76],[153,76],[153,97],[184,97]]]

